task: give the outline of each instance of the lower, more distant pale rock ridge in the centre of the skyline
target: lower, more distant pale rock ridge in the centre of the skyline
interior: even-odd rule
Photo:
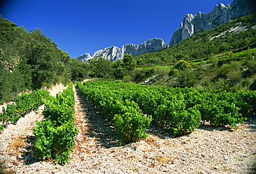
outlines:
[[[168,45],[163,41],[163,39],[153,38],[141,43],[139,46],[133,43],[125,44],[122,46],[122,48],[111,46],[104,48],[104,50],[96,51],[92,57],[89,53],[85,53],[84,55],[77,57],[77,59],[86,62],[95,57],[103,57],[104,59],[109,59],[110,61],[116,61],[117,59],[123,59],[125,54],[136,56],[146,52],[162,50],[167,47]]]

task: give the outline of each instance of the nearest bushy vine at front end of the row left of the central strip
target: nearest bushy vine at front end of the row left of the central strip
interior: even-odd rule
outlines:
[[[34,135],[36,137],[35,157],[38,160],[46,160],[53,157],[57,164],[69,162],[69,155],[74,148],[73,137],[77,133],[77,128],[73,122],[64,122],[57,126],[51,119],[44,119],[37,122]]]

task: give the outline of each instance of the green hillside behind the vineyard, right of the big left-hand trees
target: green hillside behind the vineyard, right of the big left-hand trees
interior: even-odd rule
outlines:
[[[138,84],[149,79],[147,84],[152,86],[255,90],[255,19],[256,12],[252,12],[170,48],[135,57],[124,55],[115,62],[102,57],[88,63],[72,59],[72,79],[119,79]]]

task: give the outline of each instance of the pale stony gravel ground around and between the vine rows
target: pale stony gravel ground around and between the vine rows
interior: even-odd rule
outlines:
[[[42,120],[41,106],[0,134],[0,173],[256,173],[256,117],[232,128],[200,126],[174,137],[152,125],[149,137],[126,146],[89,101],[75,90],[75,151],[71,162],[33,157],[33,126]]]

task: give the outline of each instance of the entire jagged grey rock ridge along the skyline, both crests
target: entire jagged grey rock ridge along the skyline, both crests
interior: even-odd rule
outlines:
[[[179,43],[197,32],[210,30],[222,23],[226,23],[230,19],[244,16],[254,10],[256,10],[256,6],[253,0],[234,0],[227,6],[220,3],[208,13],[197,12],[197,14],[186,14],[180,28],[174,31],[169,44],[164,43],[161,38],[152,38],[144,41],[140,45],[127,43],[121,48],[110,46],[103,50],[96,51],[93,56],[89,53],[84,53],[80,55],[80,57],[77,57],[77,59],[82,62],[87,62],[90,59],[102,57],[110,61],[116,61],[117,59],[123,59],[125,54],[136,56],[147,52],[156,52]]]

